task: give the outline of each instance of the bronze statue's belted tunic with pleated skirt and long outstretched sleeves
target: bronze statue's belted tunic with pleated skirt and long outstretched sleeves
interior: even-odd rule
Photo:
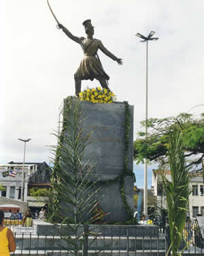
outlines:
[[[93,79],[109,80],[108,74],[103,70],[101,61],[99,61],[96,56],[97,51],[98,49],[100,49],[103,53],[105,53],[105,55],[107,55],[114,61],[117,59],[117,57],[103,46],[101,40],[88,40],[87,38],[78,38],[75,35],[72,35],[65,27],[63,27],[63,31],[69,38],[71,38],[75,42],[78,42],[78,44],[82,46],[82,50],[84,51],[84,58],[82,59],[77,72],[75,72],[74,78],[80,80],[90,79],[91,81]]]

